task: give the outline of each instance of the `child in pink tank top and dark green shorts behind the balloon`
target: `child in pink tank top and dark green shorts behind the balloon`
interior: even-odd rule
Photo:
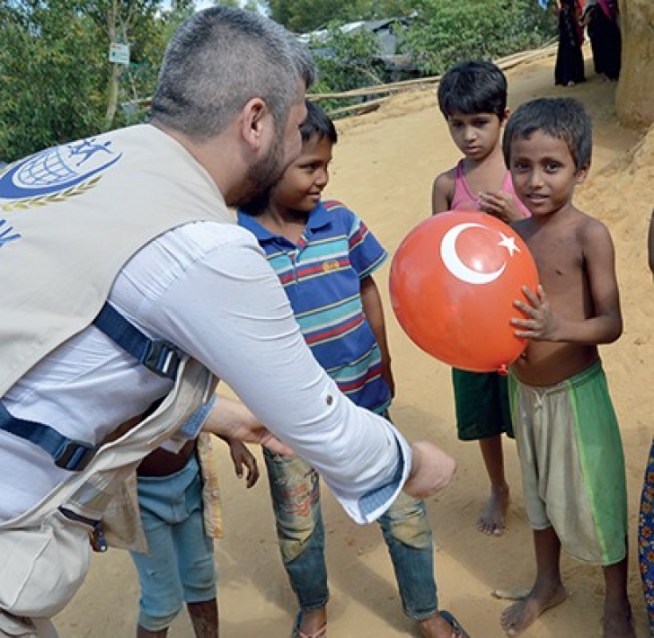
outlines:
[[[499,67],[481,60],[451,67],[438,84],[438,106],[464,159],[434,181],[432,213],[482,210],[507,223],[528,216],[502,155],[507,79]],[[502,449],[503,435],[511,436],[506,379],[453,369],[453,385],[458,438],[478,441],[491,487],[476,527],[499,536],[510,501]]]

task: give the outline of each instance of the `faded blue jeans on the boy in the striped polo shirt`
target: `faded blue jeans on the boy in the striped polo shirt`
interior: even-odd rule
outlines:
[[[263,448],[282,562],[301,609],[320,609],[329,600],[324,560],[320,482],[299,456]],[[379,518],[393,561],[404,613],[425,620],[438,608],[434,545],[424,501],[401,493]]]

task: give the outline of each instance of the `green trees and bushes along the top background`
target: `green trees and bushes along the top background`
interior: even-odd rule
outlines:
[[[234,0],[217,4],[231,4]],[[176,0],[0,0],[0,159],[13,161],[46,146],[87,137],[146,118],[166,43],[193,9]],[[423,74],[441,73],[463,58],[498,58],[553,35],[551,12],[536,0],[271,0],[271,16],[294,31],[329,24],[314,46],[315,93],[379,84],[376,37],[336,27],[359,19],[417,11],[402,40]],[[249,8],[256,3],[250,0]],[[112,41],[130,45],[129,66],[110,64]],[[120,108],[120,105],[128,108]],[[334,104],[335,105],[335,104]],[[342,105],[340,102],[339,105]]]

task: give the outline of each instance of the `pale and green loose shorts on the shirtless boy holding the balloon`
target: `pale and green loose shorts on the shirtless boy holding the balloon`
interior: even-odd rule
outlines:
[[[557,385],[510,377],[529,522],[553,527],[568,554],[612,565],[626,555],[623,444],[600,363]]]

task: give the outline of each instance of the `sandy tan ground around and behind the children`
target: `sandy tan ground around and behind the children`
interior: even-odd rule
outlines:
[[[614,114],[614,85],[602,83],[587,63],[588,83],[568,89],[552,86],[553,58],[508,72],[510,102],[535,96],[572,95],[584,101],[596,127],[591,178],[577,203],[610,227],[617,250],[625,330],[603,348],[605,368],[619,414],[627,461],[632,537],[629,590],[638,635],[647,635],[635,531],[641,476],[651,439],[654,393],[650,361],[654,354],[654,290],[646,261],[646,233],[654,183],[654,132],[621,128]],[[429,215],[435,174],[455,164],[458,152],[437,111],[433,91],[406,93],[376,113],[340,122],[332,179],[327,195],[346,202],[367,220],[393,252],[402,237]],[[650,191],[651,192],[651,191]],[[388,267],[377,281],[387,290]],[[487,496],[481,456],[474,443],[457,441],[450,371],[418,350],[404,335],[385,298],[398,398],[393,417],[410,439],[429,439],[446,448],[459,464],[455,483],[429,501],[436,541],[440,606],[455,612],[474,638],[504,635],[499,614],[506,601],[493,589],[531,584],[534,559],[526,521],[515,447],[505,447],[513,500],[508,530],[482,536],[475,520]],[[261,454],[256,450],[261,461]],[[246,492],[235,479],[225,451],[219,453],[225,538],[217,542],[217,569],[223,638],[287,636],[296,602],[282,569],[265,477]],[[418,635],[402,615],[393,571],[376,525],[358,527],[324,493],[331,604],[329,635],[342,638]],[[585,638],[601,635],[603,579],[598,568],[567,556],[562,561],[571,596],[526,632],[529,638]],[[127,554],[95,555],[92,570],[72,604],[57,618],[64,638],[129,636],[137,617],[137,579]],[[172,636],[190,637],[185,614]]]

